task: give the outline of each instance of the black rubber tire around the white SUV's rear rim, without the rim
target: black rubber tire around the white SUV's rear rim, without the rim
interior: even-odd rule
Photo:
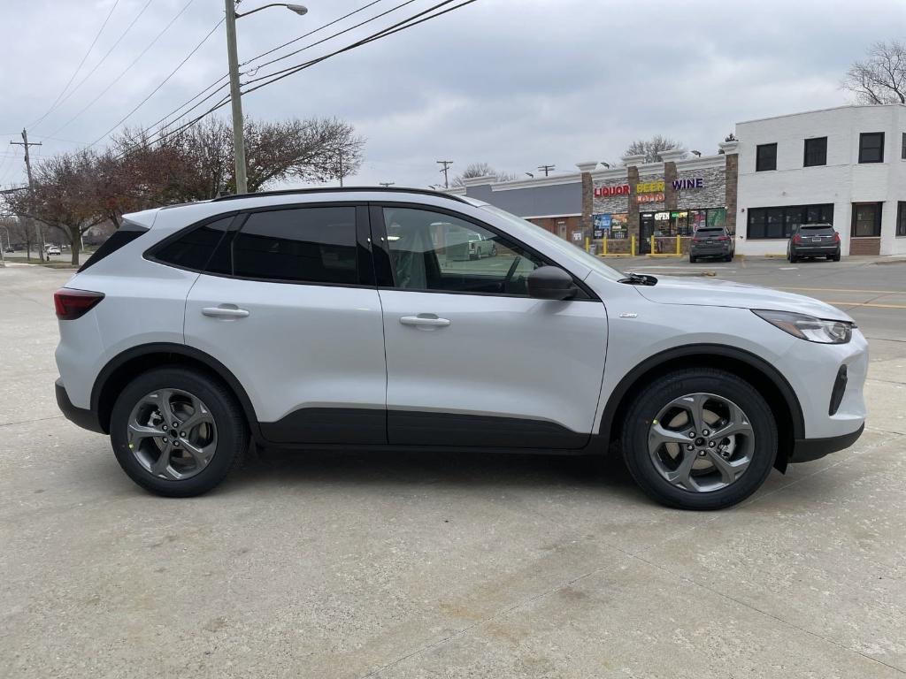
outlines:
[[[200,398],[217,427],[217,448],[210,462],[195,476],[180,481],[160,479],[149,473],[132,454],[126,434],[136,403],[155,389],[166,387],[182,389]],[[224,385],[194,370],[158,368],[142,373],[120,393],[111,413],[111,445],[123,471],[142,488],[169,497],[189,497],[207,493],[224,480],[242,458],[248,433],[242,411]]]

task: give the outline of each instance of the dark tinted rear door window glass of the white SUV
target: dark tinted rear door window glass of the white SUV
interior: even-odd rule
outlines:
[[[233,239],[233,273],[271,281],[358,283],[355,208],[252,213]]]

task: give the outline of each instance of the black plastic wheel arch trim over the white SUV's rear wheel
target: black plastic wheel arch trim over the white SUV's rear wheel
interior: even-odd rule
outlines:
[[[110,359],[98,373],[92,387],[92,411],[97,414],[98,422],[105,434],[110,434],[113,404],[123,387],[136,375],[164,365],[196,368],[199,372],[223,382],[242,407],[252,435],[255,439],[260,438],[255,406],[252,405],[246,389],[230,369],[200,349],[171,342],[154,342],[126,349]]]

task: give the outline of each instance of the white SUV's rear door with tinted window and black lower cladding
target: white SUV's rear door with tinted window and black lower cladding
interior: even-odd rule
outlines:
[[[240,215],[188,294],[186,343],[236,376],[269,441],[386,443],[367,220],[336,204]]]

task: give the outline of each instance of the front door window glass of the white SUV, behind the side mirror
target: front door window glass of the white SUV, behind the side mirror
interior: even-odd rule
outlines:
[[[397,288],[528,296],[528,274],[545,265],[509,239],[451,215],[385,207],[384,225]]]

